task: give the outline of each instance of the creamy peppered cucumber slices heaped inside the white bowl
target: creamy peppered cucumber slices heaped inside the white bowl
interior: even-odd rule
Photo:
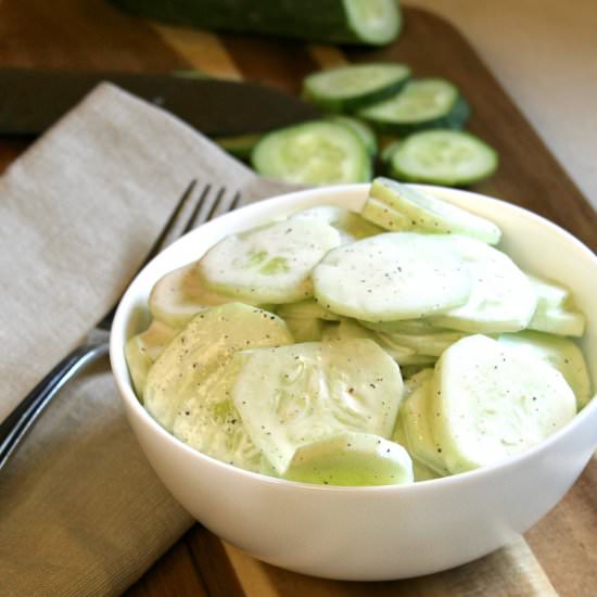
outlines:
[[[571,291],[492,221],[377,178],[221,239],[154,285],[126,345],[148,412],[236,467],[407,484],[500,462],[590,399]],[[198,256],[199,257],[199,256]]]

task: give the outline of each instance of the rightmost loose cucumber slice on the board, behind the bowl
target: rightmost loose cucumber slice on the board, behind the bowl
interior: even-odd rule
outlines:
[[[465,187],[491,176],[497,164],[497,152],[470,132],[425,130],[396,149],[390,175],[410,182]]]

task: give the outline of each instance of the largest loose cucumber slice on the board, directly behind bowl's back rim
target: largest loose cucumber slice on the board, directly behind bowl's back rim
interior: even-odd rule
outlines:
[[[313,120],[269,132],[253,150],[263,176],[298,185],[367,182],[371,158],[360,139],[343,125]]]

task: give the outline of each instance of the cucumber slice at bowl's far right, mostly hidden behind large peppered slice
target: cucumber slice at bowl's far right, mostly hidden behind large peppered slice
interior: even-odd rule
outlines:
[[[506,346],[542,358],[564,377],[576,396],[579,410],[590,399],[590,379],[581,348],[567,338],[522,331],[504,333],[497,338]]]

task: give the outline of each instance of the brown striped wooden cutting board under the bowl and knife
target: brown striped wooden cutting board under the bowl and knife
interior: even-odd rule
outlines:
[[[404,10],[399,40],[381,50],[215,36],[136,20],[102,0],[0,0],[0,65],[169,72],[200,68],[297,92],[314,69],[399,61],[416,76],[454,80],[469,99],[470,130],[500,155],[474,190],[528,207],[597,249],[597,215],[463,37],[445,21]],[[0,170],[27,143],[0,139]],[[597,595],[597,460],[564,499],[515,544],[455,570],[391,583],[322,581],[263,564],[195,525],[128,595]]]

